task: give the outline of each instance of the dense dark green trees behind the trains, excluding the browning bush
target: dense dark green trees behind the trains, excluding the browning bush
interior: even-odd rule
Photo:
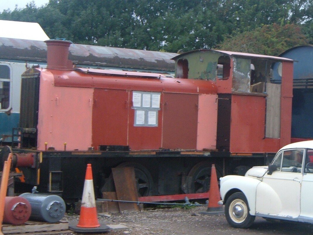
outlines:
[[[50,0],[0,13],[38,22],[50,38],[168,52],[212,48],[274,23],[301,24],[312,42],[312,16],[313,0]]]

